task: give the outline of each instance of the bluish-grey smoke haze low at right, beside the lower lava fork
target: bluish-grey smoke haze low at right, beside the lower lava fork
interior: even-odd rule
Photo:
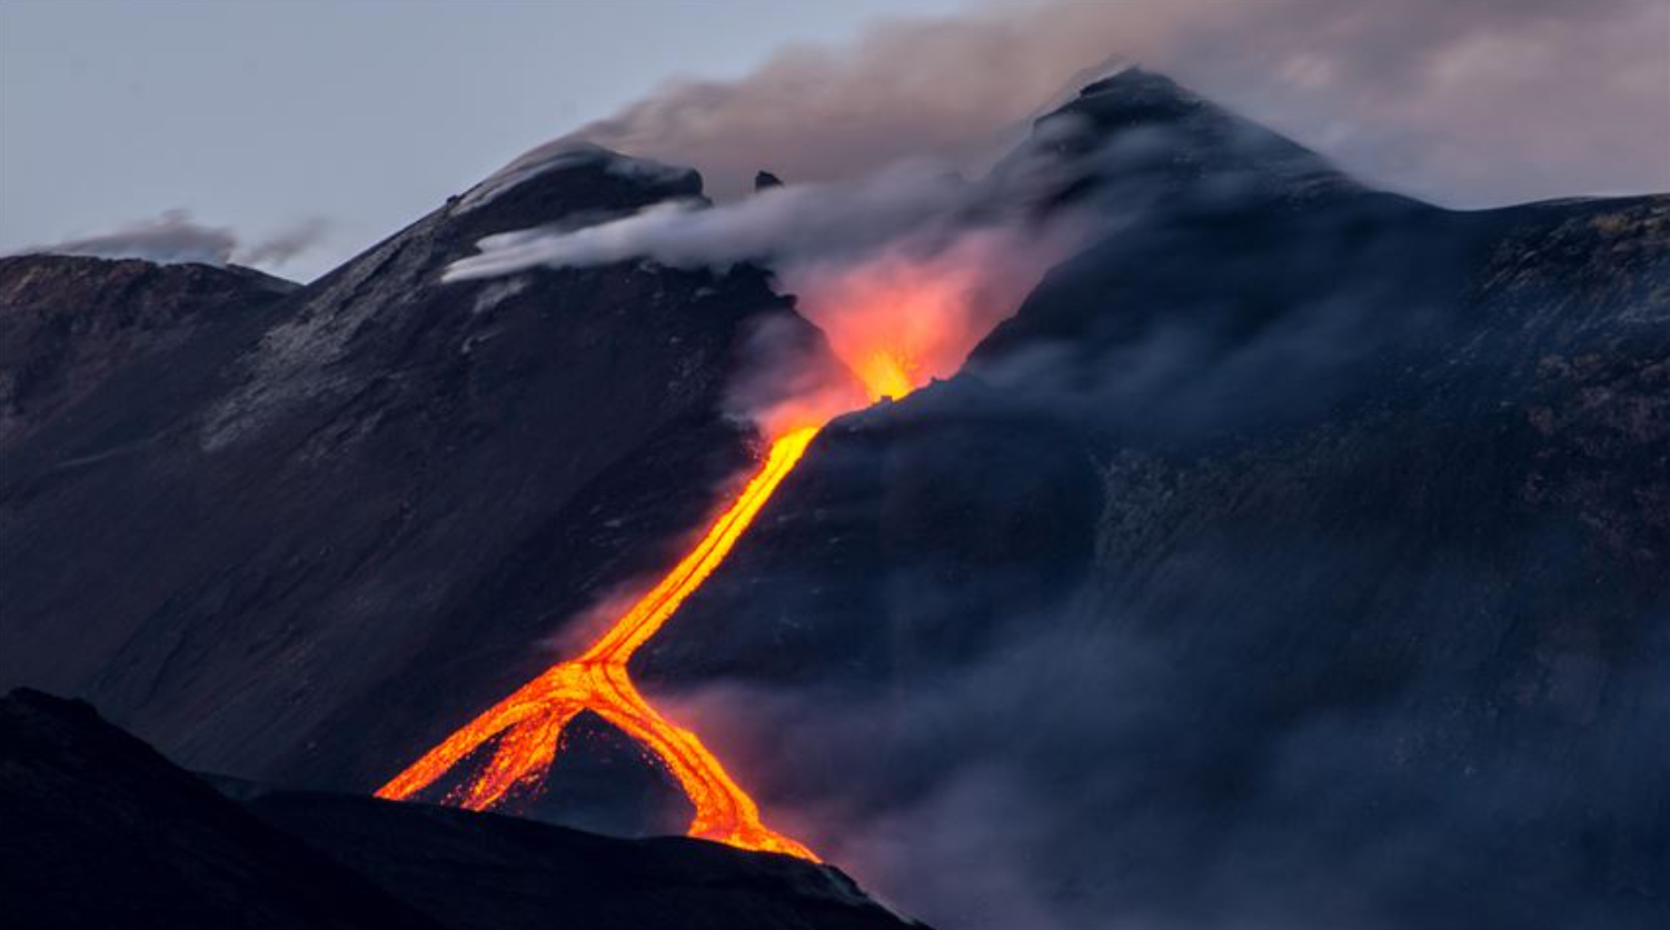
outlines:
[[[1234,551],[1186,556],[1244,564]],[[1276,556],[1319,564],[1314,553]],[[1396,581],[1418,596],[1475,589],[1438,569]],[[1627,775],[1610,776],[1628,788],[1595,798],[1560,781],[1543,748],[1503,751],[1496,736],[1460,750],[1465,773],[1414,758],[1436,755],[1428,743],[1440,736],[1409,708],[1460,686],[1431,670],[1389,696],[1298,715],[1276,710],[1281,686],[1214,695],[1207,685],[1256,675],[1246,653],[1259,636],[1291,629],[1278,609],[1236,614],[1247,624],[1232,636],[1239,666],[1216,653],[1202,661],[1204,649],[1181,661],[1174,641],[1142,633],[1131,613],[1097,623],[1065,611],[1022,618],[1025,628],[952,671],[887,688],[713,686],[678,713],[701,720],[757,780],[775,765],[788,770],[785,785],[810,785],[817,800],[797,798],[785,813],[800,820],[787,823],[935,927],[1396,930],[1466,913],[1468,927],[1598,930],[1650,925],[1608,918],[1608,905],[1663,912],[1597,898],[1560,857],[1545,857],[1608,816],[1612,830],[1658,816],[1647,788],[1657,760],[1618,761]],[[1164,624],[1222,619],[1207,611]],[[1642,733],[1670,706],[1660,681],[1653,670],[1617,673],[1618,688],[1653,706],[1633,721]],[[1541,820],[1526,828],[1525,811]],[[1662,887],[1632,868],[1618,867],[1620,887]],[[1540,920],[1526,922],[1533,913]]]

